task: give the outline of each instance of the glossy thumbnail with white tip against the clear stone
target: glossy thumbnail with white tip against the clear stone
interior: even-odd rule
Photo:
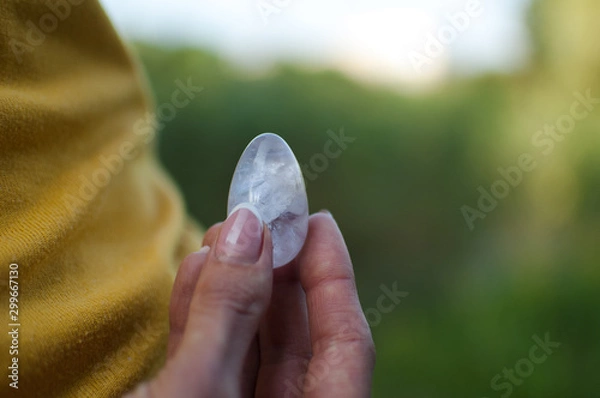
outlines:
[[[216,256],[221,261],[253,264],[258,261],[263,246],[263,221],[254,206],[237,206],[221,228]]]

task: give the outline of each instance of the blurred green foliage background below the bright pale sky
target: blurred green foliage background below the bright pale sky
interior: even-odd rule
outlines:
[[[547,156],[532,137],[569,112],[573,92],[600,97],[598,11],[592,0],[536,2],[526,70],[418,95],[293,65],[249,77],[199,49],[136,47],[158,105],[177,79],[205,88],[165,122],[159,150],[207,226],[225,217],[257,134],[282,135],[302,164],[330,130],[356,139],[307,189],[312,211],[340,223],[365,310],[382,285],[409,293],[380,320],[368,311],[374,396],[590,398],[600,396],[600,106]],[[523,153],[535,170],[470,231],[462,206],[476,208],[477,188]],[[520,385],[494,390],[546,333],[561,346]]]

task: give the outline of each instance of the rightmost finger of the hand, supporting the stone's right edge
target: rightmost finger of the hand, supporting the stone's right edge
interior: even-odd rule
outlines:
[[[344,238],[329,214],[311,217],[299,256],[313,359],[306,396],[369,396],[375,347],[356,291]]]

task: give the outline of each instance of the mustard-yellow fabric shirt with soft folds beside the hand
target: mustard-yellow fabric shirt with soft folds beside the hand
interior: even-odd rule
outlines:
[[[164,362],[201,235],[157,163],[146,94],[97,1],[0,2],[2,397],[120,396]]]

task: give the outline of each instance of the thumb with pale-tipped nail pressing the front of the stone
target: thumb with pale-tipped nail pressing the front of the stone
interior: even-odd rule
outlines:
[[[151,386],[156,396],[238,395],[246,353],[271,299],[272,251],[256,209],[234,209],[200,273],[180,349]]]

